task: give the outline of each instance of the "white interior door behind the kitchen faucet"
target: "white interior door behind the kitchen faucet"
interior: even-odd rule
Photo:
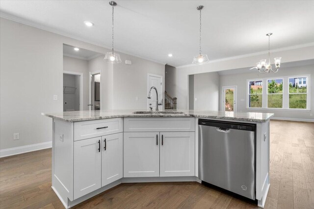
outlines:
[[[155,86],[158,91],[158,101],[159,103],[162,102],[163,98],[163,90],[162,90],[162,76],[160,75],[154,75],[154,74],[148,74],[148,81],[147,81],[147,93],[150,90],[152,86]],[[152,98],[147,98],[147,109],[149,107],[153,107],[153,110],[156,109],[156,92],[155,90],[152,90]],[[151,104],[151,105],[150,105]],[[162,109],[162,106],[159,106],[159,109]]]

